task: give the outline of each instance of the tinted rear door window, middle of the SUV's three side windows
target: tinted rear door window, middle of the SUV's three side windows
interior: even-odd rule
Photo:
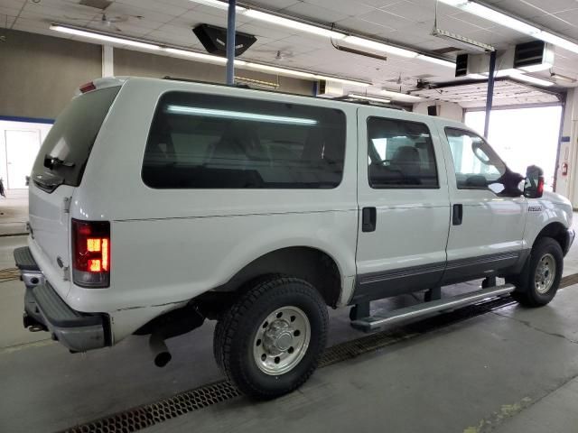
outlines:
[[[425,124],[368,118],[371,188],[438,188],[430,131]]]

